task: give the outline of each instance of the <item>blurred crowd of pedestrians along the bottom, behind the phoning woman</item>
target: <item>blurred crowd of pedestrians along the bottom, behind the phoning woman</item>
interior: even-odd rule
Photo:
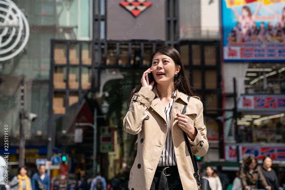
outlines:
[[[205,170],[205,176],[209,180],[211,190],[249,190],[249,189],[266,189],[266,190],[284,190],[285,184],[279,186],[280,178],[272,169],[272,159],[264,157],[261,166],[258,165],[255,156],[251,155],[244,161],[244,167],[236,172],[236,177],[232,180],[224,173],[221,165],[217,165],[216,171],[213,167],[208,166]],[[4,182],[4,167],[0,167],[0,190],[128,190],[129,176],[115,175],[111,180],[106,180],[97,172],[94,178],[83,178],[84,171],[78,170],[78,176],[75,179],[66,179],[64,175],[57,175],[50,183],[50,177],[46,173],[45,165],[38,166],[38,172],[27,176],[27,168],[20,167],[18,175],[14,176],[9,185]],[[233,181],[232,184],[229,184]],[[52,187],[51,185],[52,184]]]

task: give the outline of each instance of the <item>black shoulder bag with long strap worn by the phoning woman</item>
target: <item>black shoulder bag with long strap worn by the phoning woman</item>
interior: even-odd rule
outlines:
[[[190,96],[187,97],[188,102],[189,102],[189,99],[190,99]],[[182,111],[183,115],[186,112],[187,105],[188,104],[185,103],[183,111]],[[186,145],[187,145],[187,149],[188,149],[188,152],[190,154],[190,157],[191,157],[191,160],[192,160],[192,164],[193,164],[193,167],[194,167],[194,174],[193,175],[196,178],[198,190],[210,190],[209,181],[207,179],[205,179],[205,178],[200,179],[196,156],[194,156],[192,154],[190,143],[189,143],[188,137],[187,137],[187,133],[185,131],[183,131],[183,135],[184,135],[184,139],[185,139],[185,142],[186,142]]]

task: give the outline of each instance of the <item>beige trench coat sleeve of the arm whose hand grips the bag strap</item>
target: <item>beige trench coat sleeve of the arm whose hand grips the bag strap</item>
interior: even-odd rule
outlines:
[[[207,129],[204,125],[204,119],[203,119],[203,103],[199,101],[200,103],[200,109],[197,113],[197,117],[195,119],[194,127],[197,131],[197,136],[195,137],[194,141],[192,141],[189,136],[188,140],[191,146],[192,153],[195,156],[205,156],[208,149],[209,149],[209,143],[207,139]]]

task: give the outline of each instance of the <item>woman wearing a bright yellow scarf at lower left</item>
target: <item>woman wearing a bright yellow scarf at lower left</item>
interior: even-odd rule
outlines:
[[[32,183],[31,179],[27,176],[26,166],[22,166],[19,168],[19,174],[12,178],[10,185],[11,189],[15,185],[19,185],[18,190],[32,190]]]

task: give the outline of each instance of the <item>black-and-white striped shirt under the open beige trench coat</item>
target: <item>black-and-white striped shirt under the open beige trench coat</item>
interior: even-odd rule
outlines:
[[[172,131],[170,129],[170,115],[171,115],[171,109],[172,109],[172,105],[173,102],[175,100],[176,97],[176,90],[174,90],[174,92],[172,93],[172,96],[174,97],[173,101],[171,101],[165,108],[164,108],[164,112],[166,115],[166,121],[167,121],[167,136],[166,136],[166,141],[164,144],[164,148],[162,150],[159,162],[158,162],[158,166],[174,166],[176,165],[176,157],[175,157],[175,153],[174,153],[174,147],[173,147],[173,138],[172,138]]]

